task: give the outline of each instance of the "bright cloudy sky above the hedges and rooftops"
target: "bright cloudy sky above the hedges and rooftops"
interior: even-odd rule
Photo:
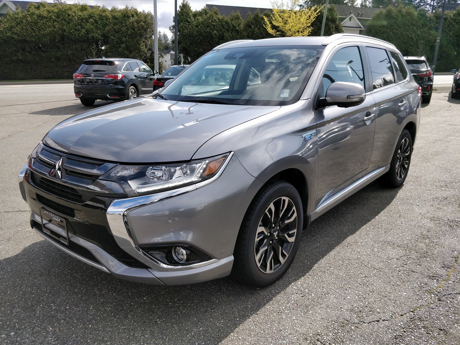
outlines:
[[[51,2],[52,0],[48,0]],[[88,5],[99,5],[105,7],[136,7],[140,11],[150,11],[153,13],[153,0],[67,0],[68,4],[74,2],[86,3]],[[178,6],[182,0],[178,0]],[[262,7],[270,8],[270,0],[189,0],[192,10],[199,10],[206,4],[214,5],[232,5],[232,6],[248,6],[248,7]],[[158,11],[158,30],[166,32],[169,37],[172,36],[169,31],[169,26],[173,24],[174,17],[174,0],[157,0]]]

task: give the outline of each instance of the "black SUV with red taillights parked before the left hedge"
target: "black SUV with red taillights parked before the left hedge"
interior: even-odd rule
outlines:
[[[90,106],[97,99],[125,100],[152,93],[156,71],[135,59],[91,59],[74,74],[75,97]]]

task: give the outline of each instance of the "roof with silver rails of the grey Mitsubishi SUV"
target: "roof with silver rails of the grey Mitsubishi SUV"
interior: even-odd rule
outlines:
[[[396,49],[393,44],[374,37],[354,34],[335,34],[332,36],[299,36],[266,38],[263,40],[236,40],[221,44],[213,50],[251,46],[327,46],[329,44],[339,44],[344,42],[375,43],[380,46]]]

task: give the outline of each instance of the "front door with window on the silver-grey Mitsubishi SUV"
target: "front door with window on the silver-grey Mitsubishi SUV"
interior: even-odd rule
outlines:
[[[366,89],[361,46],[339,48],[323,72],[318,97],[337,81]],[[318,143],[317,205],[366,174],[374,142],[374,99],[360,105],[336,105],[315,111]]]

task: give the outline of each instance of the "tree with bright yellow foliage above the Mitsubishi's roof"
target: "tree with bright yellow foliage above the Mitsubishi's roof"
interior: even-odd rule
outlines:
[[[277,37],[308,36],[311,24],[323,6],[299,9],[300,0],[289,0],[287,4],[275,0],[271,3],[273,13],[265,16],[264,27]]]

